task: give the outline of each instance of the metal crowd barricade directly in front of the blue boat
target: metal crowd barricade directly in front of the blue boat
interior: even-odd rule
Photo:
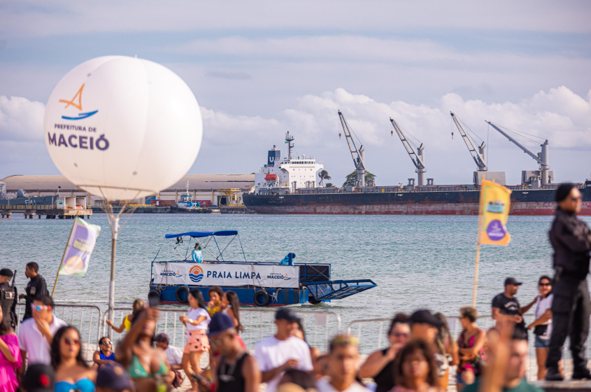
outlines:
[[[341,317],[334,311],[313,311],[293,309],[302,319],[304,332],[308,344],[318,347],[323,352],[327,350],[329,339],[341,330]],[[122,325],[123,319],[131,313],[129,307],[115,308],[114,325]],[[248,347],[253,349],[255,343],[263,337],[275,333],[275,313],[276,309],[259,309],[250,307],[240,308],[241,323],[244,327],[241,337]],[[185,325],[180,322],[180,316],[187,314],[187,309],[172,309],[169,305],[160,307],[160,318],[156,325],[156,334],[161,332],[169,335],[169,344],[179,347],[185,346],[187,330]],[[101,336],[108,335],[108,325],[105,321],[107,314],[104,315],[102,323]],[[124,336],[123,333],[113,331],[113,343],[117,344]]]

